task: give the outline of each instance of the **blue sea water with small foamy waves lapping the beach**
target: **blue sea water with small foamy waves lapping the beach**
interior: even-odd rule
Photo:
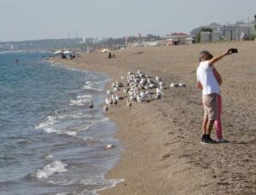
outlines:
[[[0,54],[0,194],[96,194],[114,186],[120,180],[104,179],[120,151],[101,107],[108,76],[44,55]]]

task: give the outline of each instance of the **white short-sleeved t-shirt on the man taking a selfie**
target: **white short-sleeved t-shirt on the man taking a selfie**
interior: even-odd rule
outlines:
[[[213,66],[209,66],[209,61],[200,62],[196,77],[197,81],[201,83],[203,90],[203,95],[218,94],[220,95],[220,90],[218,86],[217,79],[214,77],[212,72]]]

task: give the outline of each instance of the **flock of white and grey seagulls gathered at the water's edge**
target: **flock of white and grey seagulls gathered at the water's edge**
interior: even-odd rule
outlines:
[[[184,88],[184,83],[171,83],[170,88]],[[131,107],[131,102],[150,102],[152,100],[160,99],[164,93],[164,89],[167,89],[166,83],[160,77],[148,76],[144,72],[137,70],[137,73],[127,72],[126,77],[120,77],[120,80],[116,80],[111,83],[111,89],[107,90],[108,96],[103,106],[103,111],[106,112],[109,106],[114,106],[119,103],[120,100],[126,98],[126,106]],[[123,95],[122,94],[123,90]],[[90,100],[90,108],[93,107],[92,100]]]

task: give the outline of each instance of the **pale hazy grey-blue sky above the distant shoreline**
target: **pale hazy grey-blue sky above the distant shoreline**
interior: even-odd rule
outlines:
[[[0,0],[0,42],[189,33],[253,20],[255,0]]]

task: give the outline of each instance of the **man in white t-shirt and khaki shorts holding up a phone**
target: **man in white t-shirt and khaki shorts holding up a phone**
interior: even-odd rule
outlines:
[[[197,86],[202,89],[202,102],[204,106],[204,119],[202,122],[201,143],[216,143],[211,138],[212,125],[218,120],[218,95],[220,95],[219,83],[221,77],[216,77],[216,70],[213,64],[224,56],[232,54],[233,49],[227,50],[224,54],[213,57],[208,51],[199,54],[199,66],[196,71]],[[220,81],[219,81],[220,79]]]

